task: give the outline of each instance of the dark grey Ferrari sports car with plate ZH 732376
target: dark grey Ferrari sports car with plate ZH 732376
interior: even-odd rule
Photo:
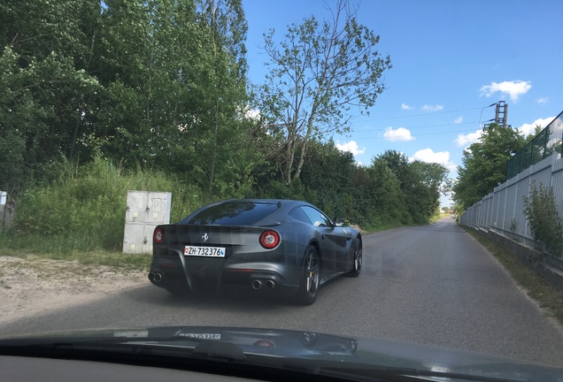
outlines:
[[[319,287],[362,268],[362,237],[308,202],[215,202],[154,230],[149,279],[181,294],[236,291],[310,305]]]

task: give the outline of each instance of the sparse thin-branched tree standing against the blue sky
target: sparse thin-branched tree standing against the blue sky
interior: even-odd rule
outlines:
[[[312,139],[348,131],[349,111],[367,111],[384,89],[382,73],[391,67],[376,44],[379,36],[358,23],[356,11],[338,1],[333,19],[314,16],[292,24],[279,44],[265,34],[270,61],[258,108],[270,134],[282,143],[282,180],[297,180]]]

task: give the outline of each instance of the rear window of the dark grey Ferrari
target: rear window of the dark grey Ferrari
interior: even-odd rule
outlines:
[[[278,208],[279,205],[277,203],[268,202],[223,202],[199,211],[192,218],[184,219],[182,223],[196,225],[254,225]]]

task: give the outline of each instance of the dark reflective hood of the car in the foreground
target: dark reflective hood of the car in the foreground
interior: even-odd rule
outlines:
[[[49,332],[4,338],[0,347],[6,355],[6,348],[50,343],[150,346],[153,351],[166,348],[167,354],[171,348],[191,349],[208,358],[244,362],[251,362],[248,355],[258,355],[286,360],[284,364],[293,360],[348,370],[361,366],[363,372],[396,371],[432,380],[563,381],[563,369],[500,356],[397,340],[262,328],[162,326]]]

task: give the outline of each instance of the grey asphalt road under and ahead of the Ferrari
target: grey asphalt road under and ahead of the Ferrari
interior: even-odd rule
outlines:
[[[334,332],[505,355],[563,367],[563,330],[497,261],[445,218],[364,237],[358,279],[317,301],[177,297],[147,285],[96,302],[1,324],[0,335],[138,325],[222,325]]]

